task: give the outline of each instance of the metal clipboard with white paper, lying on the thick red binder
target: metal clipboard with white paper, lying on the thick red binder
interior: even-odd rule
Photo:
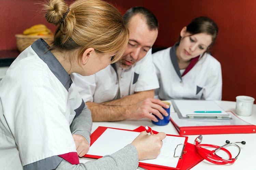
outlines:
[[[180,119],[232,119],[214,101],[207,100],[171,100]],[[195,113],[198,111],[221,111],[220,113]]]

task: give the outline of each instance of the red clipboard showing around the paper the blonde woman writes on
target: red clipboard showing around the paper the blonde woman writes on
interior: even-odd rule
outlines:
[[[99,126],[90,136],[91,138],[91,145],[93,145],[93,143],[103,134],[103,132],[108,129],[109,127],[103,127],[103,126]],[[110,129],[118,129],[118,128],[110,128]],[[126,130],[126,129],[118,129],[118,130],[124,130],[124,131],[133,131],[133,132],[142,132],[144,131],[144,127],[143,126],[140,126],[139,128],[137,128],[136,130]],[[157,134],[158,132],[156,131],[153,131],[154,134]],[[187,144],[187,139],[188,137],[187,136],[178,136],[178,135],[168,135],[167,136],[177,136],[177,137],[184,137],[185,138],[185,142],[184,142],[184,145]],[[127,143],[128,144],[128,143]],[[83,157],[88,157],[88,158],[101,158],[103,156],[98,156],[98,155],[84,155]],[[161,165],[155,165],[155,164],[148,164],[148,163],[142,163],[142,162],[139,162],[139,166],[140,165],[147,165],[147,166],[151,166],[151,167],[157,167],[157,168],[166,168],[166,169],[174,169],[174,170],[180,170],[181,169],[181,165],[182,165],[182,162],[183,162],[183,158],[179,159],[178,163],[177,163],[177,166],[176,168],[173,168],[173,167],[167,167],[167,166],[161,166]]]

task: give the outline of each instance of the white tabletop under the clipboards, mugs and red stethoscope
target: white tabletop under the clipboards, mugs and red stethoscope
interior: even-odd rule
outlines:
[[[225,111],[235,112],[236,102],[231,101],[215,101],[219,106],[221,106]],[[171,107],[170,112],[174,112],[173,107]],[[239,116],[239,118],[244,121],[256,125],[256,104],[253,106],[253,114],[251,116]],[[174,126],[169,123],[166,126],[157,126],[147,118],[139,120],[124,120],[116,122],[93,122],[92,132],[94,132],[98,126],[106,126],[112,128],[129,129],[133,130],[139,126],[150,126],[153,130],[158,132],[165,132],[166,134],[179,135]],[[194,144],[194,140],[198,135],[187,135],[188,142]],[[193,167],[193,170],[241,170],[241,169],[256,169],[256,134],[219,134],[219,135],[202,135],[202,143],[213,144],[222,146],[225,144],[226,140],[230,142],[240,142],[245,141],[246,145],[238,145],[241,148],[240,155],[234,164],[229,165],[215,165],[207,160],[203,160],[201,163]],[[229,148],[228,148],[229,149]],[[231,152],[232,153],[232,152]],[[233,156],[233,155],[232,155]],[[234,155],[236,156],[236,155]],[[80,158],[80,163],[85,163],[88,160],[95,160],[90,158]]]

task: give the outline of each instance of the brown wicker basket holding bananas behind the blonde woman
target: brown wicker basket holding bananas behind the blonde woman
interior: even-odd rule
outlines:
[[[43,38],[47,44],[51,44],[53,41],[53,35],[41,36],[41,35],[23,35],[23,34],[16,34],[16,44],[17,49],[22,52],[28,46],[32,45],[35,40],[39,38]]]

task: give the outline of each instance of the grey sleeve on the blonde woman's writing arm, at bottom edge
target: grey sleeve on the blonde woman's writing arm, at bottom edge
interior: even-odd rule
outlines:
[[[134,170],[139,166],[138,159],[136,148],[129,144],[111,155],[84,164],[72,165],[63,159],[56,170]]]

